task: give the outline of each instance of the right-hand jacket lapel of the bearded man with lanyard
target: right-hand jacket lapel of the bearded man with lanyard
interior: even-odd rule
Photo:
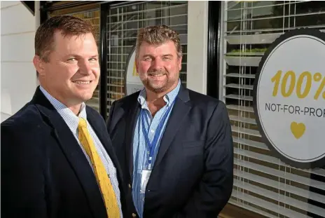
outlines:
[[[189,100],[188,90],[181,86],[179,89],[179,95],[177,96],[174,107],[172,108],[170,118],[167,121],[163,138],[160,141],[160,147],[153,168],[155,168],[155,165],[159,165],[163,160],[163,157],[165,156],[167,149],[170,147],[170,144],[172,144],[184,118],[187,116],[188,111],[190,111],[191,104],[188,104]]]

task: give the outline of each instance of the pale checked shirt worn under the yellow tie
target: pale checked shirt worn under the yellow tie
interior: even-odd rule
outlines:
[[[40,89],[41,89],[41,92],[50,101],[50,103],[53,104],[53,107],[55,107],[57,112],[62,116],[65,123],[67,123],[67,125],[69,126],[69,129],[71,130],[72,134],[76,138],[78,144],[81,147],[81,150],[83,151],[83,154],[85,154],[85,157],[87,158],[87,160],[92,168],[92,163],[90,161],[90,158],[86,154],[85,149],[83,149],[83,146],[79,142],[79,139],[78,139],[79,118],[84,118],[87,121],[87,113],[85,110],[85,103],[81,104],[81,111],[80,111],[79,115],[76,116],[76,114],[74,114],[74,112],[72,112],[71,109],[67,108],[64,104],[62,104],[61,102],[56,100],[42,86],[40,86]],[[102,159],[102,162],[104,163],[104,166],[105,166],[105,170],[106,170],[107,174],[109,175],[109,178],[111,179],[111,184],[113,186],[113,190],[115,191],[116,198],[118,200],[118,207],[120,210],[120,218],[123,218],[121,205],[120,205],[120,189],[118,189],[118,178],[116,176],[116,168],[114,167],[113,162],[111,161],[111,158],[109,158],[109,154],[107,154],[106,150],[104,149],[102,142],[100,142],[99,138],[97,137],[95,131],[92,129],[92,127],[88,121],[87,121],[87,127],[88,127],[88,130],[92,137],[92,140],[94,141],[94,144],[95,144],[95,147],[99,154],[99,157]]]

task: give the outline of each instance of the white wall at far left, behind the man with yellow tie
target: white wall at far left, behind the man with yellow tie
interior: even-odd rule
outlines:
[[[0,11],[2,122],[34,95],[37,79],[32,59],[39,16],[32,15],[21,1],[1,1]]]

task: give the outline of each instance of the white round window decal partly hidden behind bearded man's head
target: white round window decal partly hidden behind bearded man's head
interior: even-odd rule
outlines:
[[[129,55],[125,74],[125,95],[136,93],[137,91],[144,88],[144,85],[139,78],[139,74],[137,73],[137,68],[135,66],[135,46],[132,48],[132,52]]]

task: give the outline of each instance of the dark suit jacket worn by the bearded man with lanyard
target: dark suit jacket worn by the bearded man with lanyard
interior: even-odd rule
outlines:
[[[138,93],[113,102],[107,128],[132,203]],[[233,189],[233,139],[225,104],[181,86],[146,186],[144,218],[215,218]]]

